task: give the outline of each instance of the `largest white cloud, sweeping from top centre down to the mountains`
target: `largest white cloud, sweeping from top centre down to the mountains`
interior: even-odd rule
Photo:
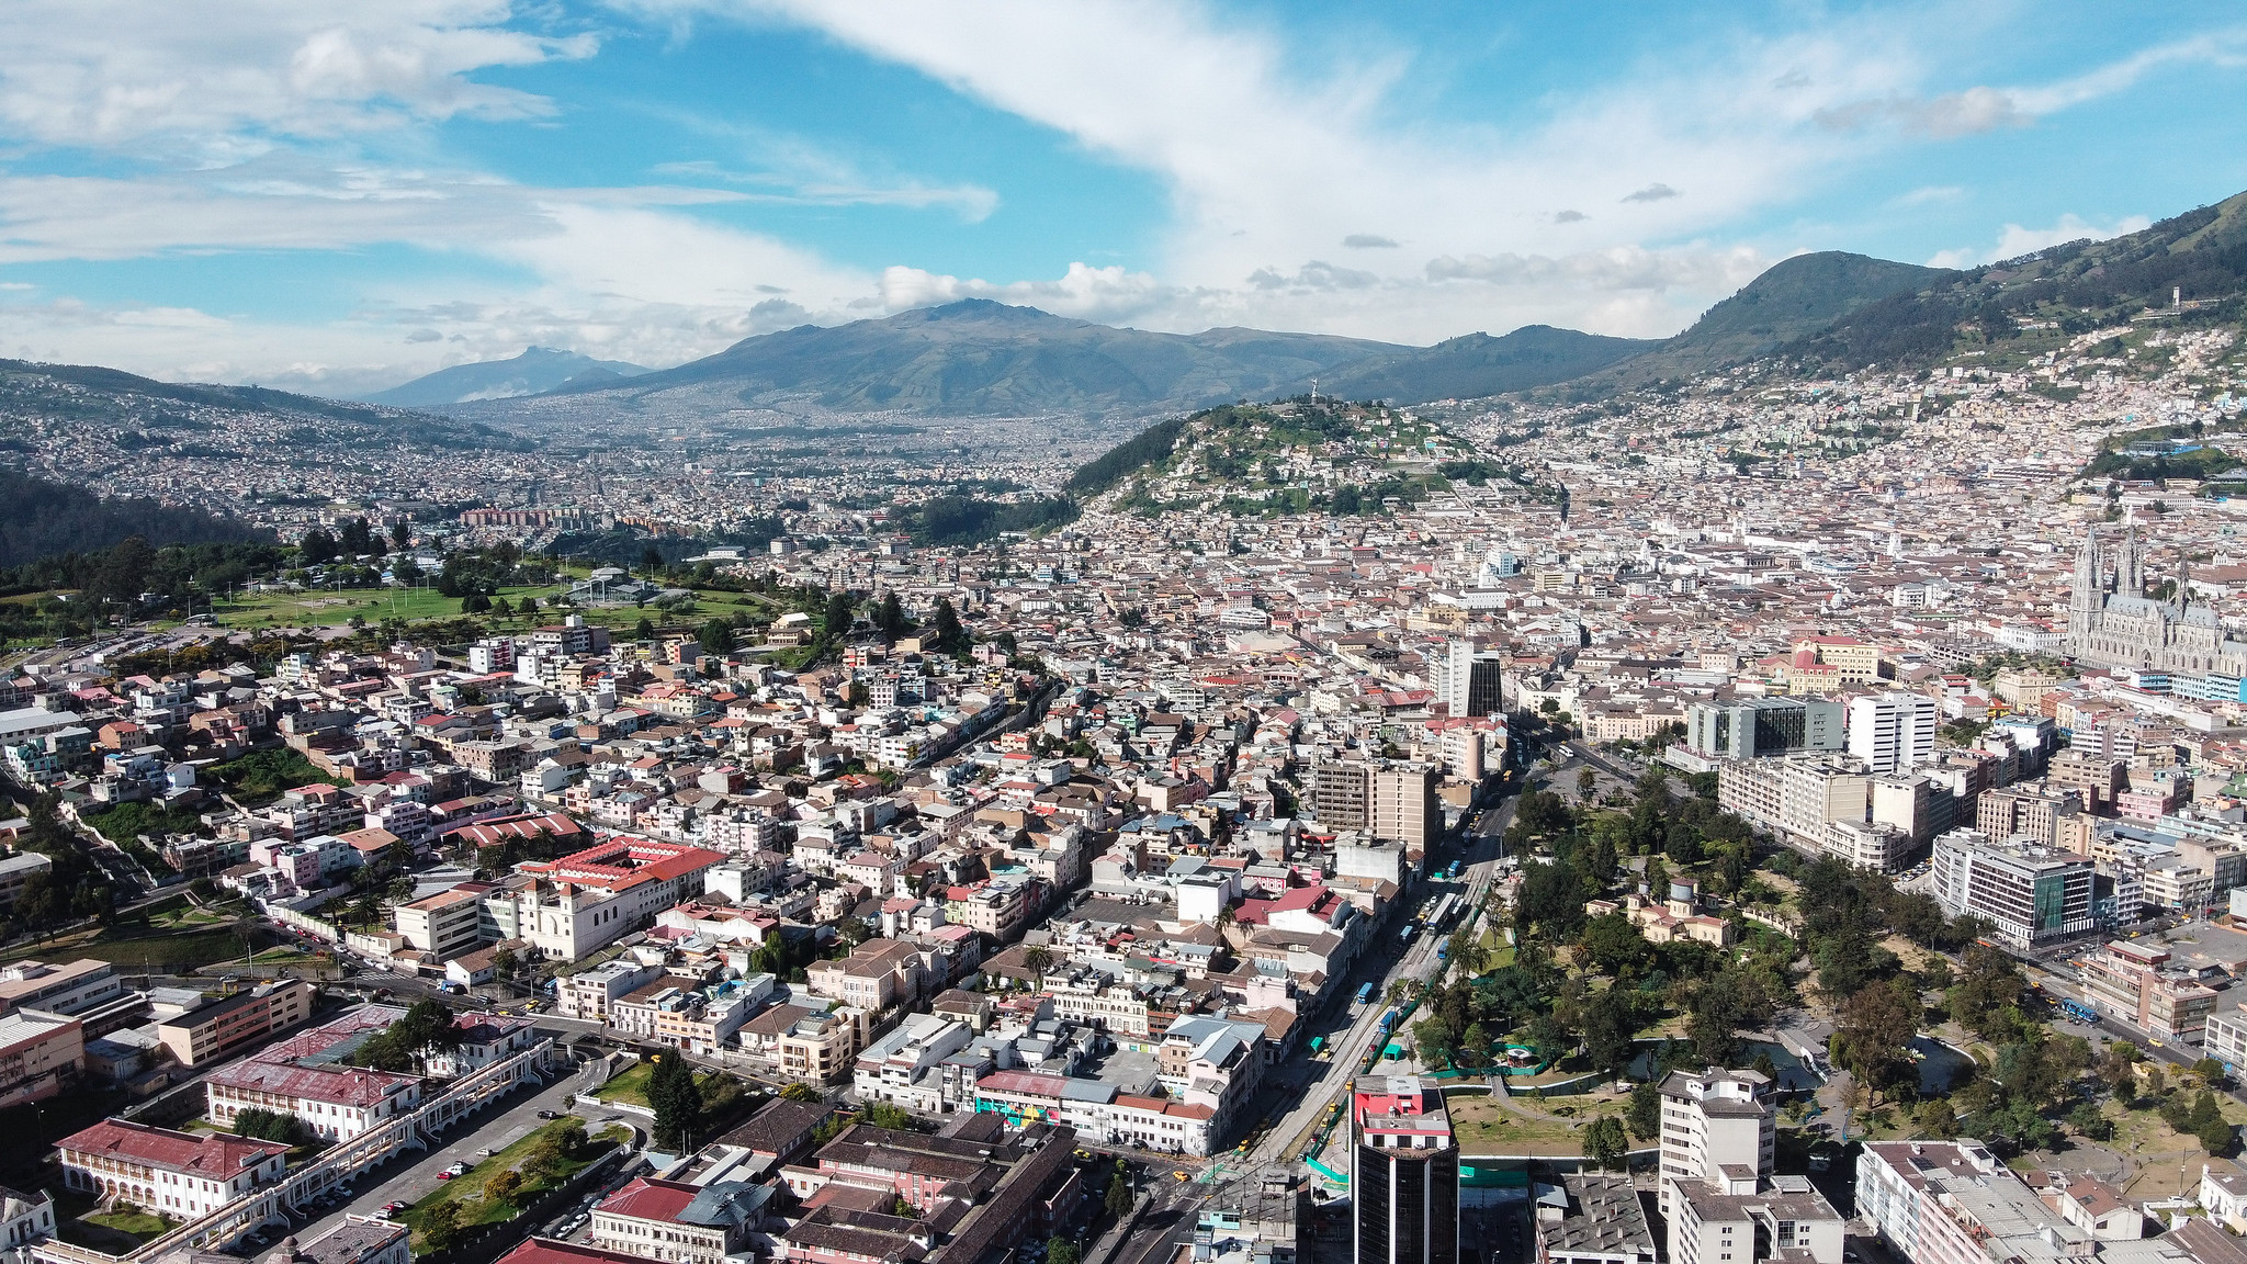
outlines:
[[[1429,128],[1400,124],[1391,108],[1389,90],[1409,70],[1393,49],[1353,47],[1339,65],[1303,74],[1279,34],[1193,0],[613,2],[681,22],[811,27],[1155,173],[1173,223],[1153,277],[1124,304],[1137,304],[1137,319],[1420,342],[1517,313],[1611,333],[1683,326],[1723,297],[1699,286],[1730,265],[1654,270],[1629,301],[1568,292],[1573,281],[1555,270],[1546,290],[1514,286],[1499,301],[1492,286],[1431,279],[1420,263],[1598,256],[1721,232],[1744,211],[1800,196],[1849,146],[1870,144],[1811,119],[1903,90],[1910,63],[1870,22],[1739,38],[1701,49],[1708,56],[1618,67],[1613,81],[1557,97],[1512,128]],[[1692,196],[1679,196],[1685,180]],[[1616,209],[1598,220],[1555,211],[1584,205]],[[1366,234],[1368,223],[1384,232]],[[1337,241],[1362,252],[1348,268],[1330,256]],[[1373,241],[1411,241],[1416,254],[1382,256]],[[1119,295],[1101,292],[1079,310],[1115,310]],[[897,306],[888,288],[885,306]]]

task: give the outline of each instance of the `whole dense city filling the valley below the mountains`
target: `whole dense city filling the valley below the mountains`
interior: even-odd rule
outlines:
[[[917,506],[1043,504],[1103,430],[43,416],[34,472],[317,535],[238,587],[369,616],[13,654],[0,1235],[2247,1264],[2240,373],[2157,310],[2004,371],[1303,396],[941,544]],[[519,619],[375,605],[501,571]]]

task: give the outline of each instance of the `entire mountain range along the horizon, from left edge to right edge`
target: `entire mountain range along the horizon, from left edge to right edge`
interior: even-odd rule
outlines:
[[[355,434],[389,427],[413,441],[506,448],[535,441],[481,425],[463,434],[456,423],[402,409],[521,434],[542,425],[539,409],[580,400],[607,414],[807,403],[831,412],[1119,418],[1292,396],[1314,382],[1323,396],[1404,405],[1512,391],[1600,400],[1773,358],[1818,373],[1939,364],[1966,349],[2027,349],[2016,340],[2108,328],[2173,299],[2182,299],[2177,315],[2186,322],[2247,326],[2247,193],[2135,234],[1966,270],[1845,252],[1798,254],[1663,340],[1537,324],[1436,346],[1256,328],[1180,335],[966,299],[746,337],[661,371],[533,346],[510,360],[416,378],[366,403],[0,362],[0,405],[36,400],[34,412],[79,414],[108,407],[119,423],[133,423],[151,400],[200,403],[328,416],[351,423],[346,430]]]

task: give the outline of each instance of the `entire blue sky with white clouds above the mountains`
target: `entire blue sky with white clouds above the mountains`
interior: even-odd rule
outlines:
[[[2236,4],[18,0],[0,355],[357,394],[995,297],[1683,328],[2247,189]]]

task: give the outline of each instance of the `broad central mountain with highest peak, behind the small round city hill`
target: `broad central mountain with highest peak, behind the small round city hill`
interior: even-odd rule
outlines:
[[[1398,351],[1407,349],[1314,333],[1146,333],[964,299],[888,319],[766,333],[676,369],[566,394],[636,400],[721,385],[744,403],[811,398],[845,412],[1146,414],[1267,398],[1337,364]]]

